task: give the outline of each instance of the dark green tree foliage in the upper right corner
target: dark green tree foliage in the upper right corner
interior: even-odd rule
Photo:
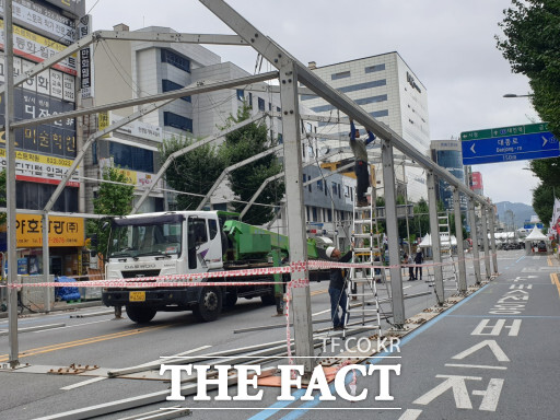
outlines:
[[[560,133],[560,1],[512,0],[499,23],[498,48],[515,73],[529,78],[533,106]]]

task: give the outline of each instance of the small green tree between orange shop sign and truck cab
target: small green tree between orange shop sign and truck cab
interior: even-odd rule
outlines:
[[[103,179],[116,183],[129,182],[125,173],[116,167],[106,167],[103,171]],[[97,197],[93,200],[93,211],[95,214],[128,214],[132,210],[133,194],[133,185],[102,183],[97,191]],[[107,221],[108,218],[88,221],[88,234],[97,235],[97,252],[102,254],[104,258],[107,254],[109,236],[109,229],[105,226]]]

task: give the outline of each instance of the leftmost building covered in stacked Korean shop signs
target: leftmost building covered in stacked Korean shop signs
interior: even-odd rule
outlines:
[[[5,3],[0,4],[3,19]],[[79,18],[85,14],[85,2],[13,0],[13,67],[14,77],[28,71],[38,62],[65,49],[79,37]],[[3,28],[5,34],[5,28]],[[4,35],[2,35],[4,36]],[[5,46],[3,46],[3,49]],[[0,84],[5,82],[4,52],[0,55]],[[59,61],[50,69],[30,78],[15,88],[14,121],[30,120],[75,109],[79,70],[78,55]],[[4,106],[0,107],[0,124],[4,124]],[[43,210],[60,179],[72,165],[80,149],[73,118],[49,124],[30,125],[14,132],[16,149],[16,241],[18,272],[43,272],[42,217],[24,210]],[[5,167],[4,142],[0,144],[2,167]],[[80,176],[73,176],[55,202],[52,211],[78,212]],[[0,250],[5,250],[5,230]],[[49,218],[50,273],[81,275],[84,221],[80,218]],[[2,241],[0,241],[2,242]],[[15,269],[15,268],[14,268]]]

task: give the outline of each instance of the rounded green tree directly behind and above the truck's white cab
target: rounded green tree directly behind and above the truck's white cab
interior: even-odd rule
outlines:
[[[161,164],[163,165],[171,154],[195,144],[197,141],[200,140],[175,137],[164,140],[160,147]],[[177,191],[189,192],[177,196],[177,209],[195,210],[226,166],[224,156],[219,153],[215,145],[211,144],[201,145],[177,156],[165,172],[170,187]]]

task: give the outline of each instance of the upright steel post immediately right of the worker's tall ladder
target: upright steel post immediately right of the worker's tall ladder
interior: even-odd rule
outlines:
[[[383,160],[383,182],[385,184],[385,208],[387,209],[387,244],[389,250],[390,295],[393,299],[393,324],[396,328],[405,326],[405,300],[402,295],[402,270],[400,269],[400,252],[397,225],[397,191],[395,188],[395,162],[393,144],[387,140],[381,142]],[[372,186],[375,188],[375,186]],[[372,197],[373,199],[373,197]]]

